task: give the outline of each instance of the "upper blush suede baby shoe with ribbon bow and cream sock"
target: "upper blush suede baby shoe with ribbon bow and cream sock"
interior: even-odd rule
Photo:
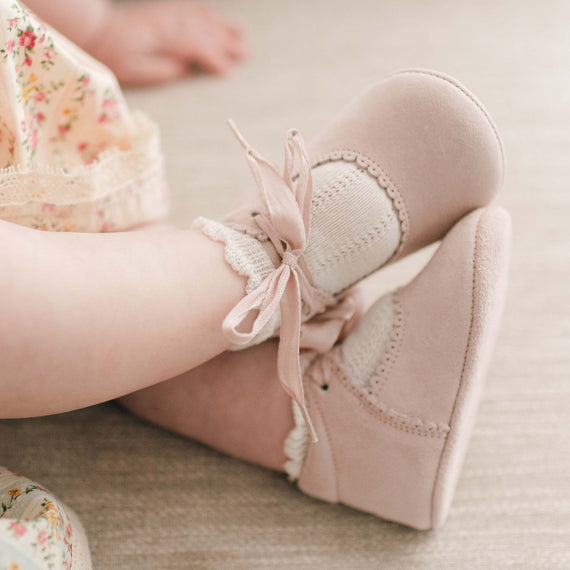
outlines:
[[[486,205],[503,177],[501,142],[473,95],[427,71],[377,83],[308,150],[290,131],[283,175],[232,127],[259,196],[223,223],[199,218],[194,227],[223,242],[228,263],[248,278],[246,297],[224,322],[228,339],[246,347],[279,330],[280,381],[316,439],[303,399],[299,346],[310,335],[301,335],[301,323],[334,305],[339,292],[440,239],[467,212]],[[254,313],[253,326],[243,330]],[[342,323],[339,314],[350,317],[351,307],[335,308]]]

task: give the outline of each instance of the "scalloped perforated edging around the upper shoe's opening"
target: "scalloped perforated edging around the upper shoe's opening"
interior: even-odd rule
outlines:
[[[408,209],[406,207],[406,201],[402,193],[398,190],[394,182],[390,177],[369,157],[366,155],[350,149],[336,150],[329,152],[320,156],[317,160],[312,163],[312,168],[320,166],[326,162],[356,162],[363,170],[365,170],[372,178],[375,178],[378,182],[378,186],[382,188],[392,201],[394,209],[398,214],[398,219],[400,221],[400,242],[398,247],[386,261],[389,263],[397,254],[400,253],[404,242],[407,240],[410,232],[410,219],[408,216]]]

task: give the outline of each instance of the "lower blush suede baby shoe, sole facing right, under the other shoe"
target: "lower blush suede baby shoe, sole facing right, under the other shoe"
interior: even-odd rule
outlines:
[[[478,209],[304,374],[286,470],[305,493],[417,529],[443,524],[499,326],[510,217]]]

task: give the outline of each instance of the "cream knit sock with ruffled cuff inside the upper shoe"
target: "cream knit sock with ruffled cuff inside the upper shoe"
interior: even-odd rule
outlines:
[[[326,162],[312,169],[312,178],[311,228],[305,260],[315,287],[336,294],[392,257],[400,243],[400,222],[378,178],[357,163]],[[248,278],[248,293],[274,270],[256,238],[205,218],[198,218],[194,227],[225,244],[226,261]],[[256,341],[271,336],[278,322],[276,315]]]

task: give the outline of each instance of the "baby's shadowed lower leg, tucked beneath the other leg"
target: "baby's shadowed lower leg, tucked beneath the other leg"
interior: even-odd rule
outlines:
[[[283,471],[283,444],[294,422],[291,398],[277,380],[275,341],[225,352],[120,403],[228,455]]]

